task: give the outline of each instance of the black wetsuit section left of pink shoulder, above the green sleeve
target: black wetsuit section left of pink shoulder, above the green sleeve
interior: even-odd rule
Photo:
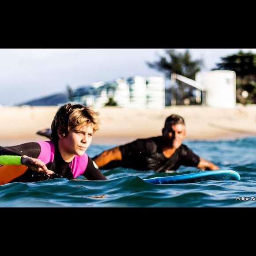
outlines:
[[[12,147],[0,147],[0,155],[27,155],[32,158],[38,158],[41,147],[38,143],[31,142]]]

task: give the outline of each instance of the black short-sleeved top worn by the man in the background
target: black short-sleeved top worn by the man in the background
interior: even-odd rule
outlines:
[[[177,170],[180,166],[196,167],[200,162],[199,156],[183,144],[170,158],[164,156],[162,148],[162,136],[137,139],[132,143],[120,146],[121,161],[109,162],[101,169],[124,167],[136,170],[154,170],[160,173],[167,170]]]

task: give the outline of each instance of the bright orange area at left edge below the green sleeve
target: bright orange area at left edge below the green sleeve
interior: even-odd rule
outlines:
[[[26,170],[26,166],[0,166],[0,185],[9,183],[25,173]]]

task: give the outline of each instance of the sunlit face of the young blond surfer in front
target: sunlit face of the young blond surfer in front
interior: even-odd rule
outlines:
[[[63,145],[69,153],[82,156],[90,146],[92,136],[93,128],[82,124],[68,132],[68,136],[63,139]]]

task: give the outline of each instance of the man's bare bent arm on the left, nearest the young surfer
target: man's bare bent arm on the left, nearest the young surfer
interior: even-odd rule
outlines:
[[[119,147],[112,148],[110,150],[103,151],[96,158],[94,158],[94,162],[97,164],[99,168],[107,165],[111,161],[120,161],[122,160],[122,154]]]

